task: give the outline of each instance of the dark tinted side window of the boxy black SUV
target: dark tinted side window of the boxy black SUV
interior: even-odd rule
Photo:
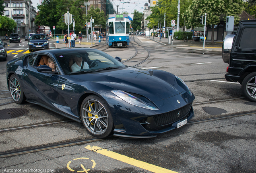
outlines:
[[[256,33],[256,28],[244,28],[239,47],[255,49],[255,45],[256,45],[255,33]]]

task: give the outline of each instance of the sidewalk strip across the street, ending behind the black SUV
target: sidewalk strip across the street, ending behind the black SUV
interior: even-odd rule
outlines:
[[[140,36],[138,36],[140,37]],[[153,40],[155,42],[158,42],[159,44],[163,44],[165,46],[175,47],[175,48],[183,48],[183,49],[190,49],[190,50],[207,50],[207,51],[220,51],[222,50],[222,41],[215,41],[213,44],[211,43],[211,40],[206,40],[205,45],[203,49],[203,41],[193,41],[188,40],[188,42],[184,42],[182,40],[175,40],[173,39],[173,45],[168,44],[168,38],[162,38],[161,41],[159,40],[159,37],[154,38],[152,36],[143,36],[147,39]]]

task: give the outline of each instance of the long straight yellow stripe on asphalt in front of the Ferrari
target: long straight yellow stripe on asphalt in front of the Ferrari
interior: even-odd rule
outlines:
[[[116,159],[118,161],[122,161],[124,163],[128,163],[130,165],[133,165],[133,166],[136,166],[136,167],[139,167],[139,168],[142,168],[142,169],[154,172],[154,173],[177,173],[175,171],[171,171],[169,169],[165,169],[165,168],[155,166],[155,165],[152,165],[152,164],[149,164],[149,163],[146,163],[146,162],[142,162],[142,161],[133,159],[131,157],[127,157],[127,156],[115,153],[113,151],[109,151],[107,149],[102,149],[102,148],[97,147],[97,146],[91,147],[90,145],[87,145],[87,147],[85,147],[85,149],[89,149],[91,151],[94,151],[96,153],[105,155],[105,156],[110,157],[112,159]]]

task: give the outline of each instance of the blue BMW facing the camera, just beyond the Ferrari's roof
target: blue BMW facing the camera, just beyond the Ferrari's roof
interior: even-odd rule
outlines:
[[[29,51],[49,49],[48,38],[45,34],[33,34],[29,40]]]

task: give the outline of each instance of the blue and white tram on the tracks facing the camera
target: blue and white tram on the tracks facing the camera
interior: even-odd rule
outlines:
[[[109,14],[106,26],[107,45],[114,47],[129,45],[129,17],[127,14]]]

